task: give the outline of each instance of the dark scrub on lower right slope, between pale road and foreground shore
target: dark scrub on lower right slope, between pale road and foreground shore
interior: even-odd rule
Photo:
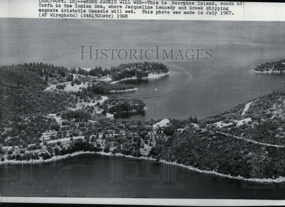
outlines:
[[[242,140],[211,131],[185,131],[182,135],[185,142],[177,148],[178,163],[195,166],[202,170],[215,170],[223,174],[252,177],[251,148],[244,146]],[[276,147],[266,147],[266,151],[268,152],[266,158],[277,157]],[[280,150],[281,157],[285,157],[284,152],[285,150],[282,148]],[[273,175],[278,169],[274,164],[266,165],[266,175]],[[269,165],[271,167],[268,167]],[[280,176],[284,176],[285,171],[280,171]]]

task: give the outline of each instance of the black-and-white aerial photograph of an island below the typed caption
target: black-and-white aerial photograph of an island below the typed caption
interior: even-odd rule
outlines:
[[[1,196],[285,198],[285,22],[0,25]]]

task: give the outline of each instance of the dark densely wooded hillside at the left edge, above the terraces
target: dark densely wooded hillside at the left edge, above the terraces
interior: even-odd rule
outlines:
[[[23,97],[24,115],[66,110],[75,98],[66,91],[44,91],[48,85],[38,75],[38,69],[1,69],[0,77],[0,90],[7,90],[9,96],[17,93],[19,97]]]

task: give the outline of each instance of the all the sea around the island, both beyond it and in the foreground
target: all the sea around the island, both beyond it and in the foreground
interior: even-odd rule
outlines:
[[[165,99],[165,117],[199,119],[245,103],[264,92],[283,87],[285,75],[255,74],[256,65],[284,59],[285,22],[254,21],[105,21],[77,19],[0,19],[1,65],[44,62],[54,65],[103,69],[137,60],[80,60],[80,45],[94,49],[213,49],[210,61],[158,60],[170,76],[149,81],[129,81],[151,95]],[[21,32],[19,32],[21,31]],[[143,60],[145,61],[145,60]],[[152,60],[150,60],[152,62]],[[157,89],[157,90],[155,90]],[[121,96],[116,94],[116,96]],[[4,166],[0,166],[0,177]],[[125,175],[135,174],[135,164],[125,163]],[[161,163],[149,164],[161,175]],[[9,174],[19,175],[19,165],[9,164]],[[160,178],[161,179],[161,178]],[[109,182],[109,157],[81,155],[36,164],[34,180],[43,188],[11,188],[19,180],[0,180],[1,196],[114,197],[114,198],[237,198],[284,199],[285,185],[274,189],[243,189],[239,180],[176,167],[176,180],[184,188],[153,188],[160,180],[125,180],[133,188],[101,188]]]

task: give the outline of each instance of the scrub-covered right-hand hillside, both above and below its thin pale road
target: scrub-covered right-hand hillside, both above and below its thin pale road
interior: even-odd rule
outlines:
[[[278,94],[280,100],[284,99],[285,90],[280,89]],[[275,94],[275,92],[273,92]],[[176,150],[176,159],[178,163],[182,163],[188,166],[194,166],[201,170],[214,170],[222,174],[228,174],[233,176],[241,175],[246,178],[253,177],[251,174],[251,147],[244,145],[242,138],[249,135],[260,143],[255,143],[255,147],[265,147],[265,158],[277,158],[278,150],[276,146],[264,146],[262,141],[264,138],[273,138],[271,142],[265,142],[267,144],[278,144],[284,146],[285,129],[282,125],[275,124],[274,126],[262,124],[270,123],[272,106],[260,105],[259,99],[253,99],[253,101],[245,115],[241,115],[245,104],[239,104],[229,111],[225,111],[221,114],[217,114],[212,117],[207,117],[199,121],[200,128],[186,128],[182,133],[174,132],[174,134],[180,134],[184,137],[184,144],[178,147]],[[248,101],[247,103],[251,102]],[[262,99],[261,99],[262,101]],[[283,111],[282,111],[283,110]],[[261,113],[260,113],[261,112]],[[279,108],[279,113],[285,114],[284,109]],[[260,116],[262,114],[262,116]],[[222,128],[212,128],[206,126],[206,124],[212,124],[218,121],[232,122],[233,119],[241,120],[251,117],[253,121],[244,123],[240,126],[233,124],[231,126],[225,126]],[[260,121],[262,118],[262,121]],[[173,129],[183,128],[184,125],[197,122],[196,118],[190,117],[186,120],[170,119],[170,125],[164,127],[164,133],[172,134]],[[170,131],[170,132],[169,132]],[[161,137],[161,135],[159,135]],[[163,138],[163,136],[162,136]],[[279,138],[279,139],[278,139]],[[164,136],[165,143],[171,143],[167,136]],[[153,146],[150,150],[150,156],[154,158],[161,157],[161,147]],[[279,148],[280,158],[285,157],[285,149]],[[284,164],[279,165],[274,163],[266,163],[266,175],[284,176]]]

